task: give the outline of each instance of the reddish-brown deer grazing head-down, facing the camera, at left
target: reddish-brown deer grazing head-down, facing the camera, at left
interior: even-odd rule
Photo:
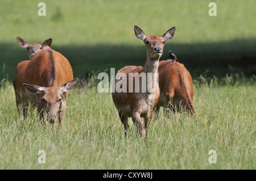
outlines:
[[[19,79],[19,86],[22,86],[14,86],[15,92],[18,92],[21,98],[17,104],[22,108],[23,115],[26,116],[28,105],[34,104],[37,106],[40,120],[54,123],[59,119],[61,124],[68,92],[78,80],[73,79],[73,71],[67,58],[48,48],[36,53],[28,64],[22,69],[17,69],[17,72],[23,75]]]

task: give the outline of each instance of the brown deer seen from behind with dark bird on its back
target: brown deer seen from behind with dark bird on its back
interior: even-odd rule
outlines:
[[[177,57],[169,51],[171,59],[159,61],[159,88],[160,97],[156,106],[159,113],[160,106],[166,112],[167,108],[172,111],[180,111],[183,107],[192,114],[196,113],[193,106],[193,85],[189,71],[183,64],[177,62]]]

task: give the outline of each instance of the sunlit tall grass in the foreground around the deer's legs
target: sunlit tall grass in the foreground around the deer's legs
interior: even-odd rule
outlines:
[[[228,79],[228,78],[227,78]],[[255,80],[254,80],[255,81]],[[255,169],[255,83],[194,85],[197,115],[154,116],[146,140],[125,138],[110,93],[72,90],[62,129],[31,110],[19,118],[10,82],[0,90],[0,169]],[[39,164],[39,150],[46,164]],[[209,150],[217,163],[210,164]]]

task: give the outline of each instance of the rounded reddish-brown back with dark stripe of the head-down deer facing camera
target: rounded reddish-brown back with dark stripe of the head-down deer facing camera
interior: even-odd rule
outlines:
[[[24,83],[42,87],[59,87],[72,79],[69,61],[52,49],[36,53],[24,72]]]

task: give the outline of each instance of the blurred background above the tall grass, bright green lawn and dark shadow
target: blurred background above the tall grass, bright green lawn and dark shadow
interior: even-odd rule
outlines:
[[[0,81],[13,79],[18,62],[27,60],[16,36],[27,43],[53,39],[52,49],[71,62],[75,77],[86,71],[116,70],[144,65],[146,47],[134,35],[134,25],[146,35],[163,35],[176,27],[160,60],[172,50],[196,79],[256,74],[256,1],[214,1],[217,16],[209,16],[212,1],[42,1],[0,2]]]

